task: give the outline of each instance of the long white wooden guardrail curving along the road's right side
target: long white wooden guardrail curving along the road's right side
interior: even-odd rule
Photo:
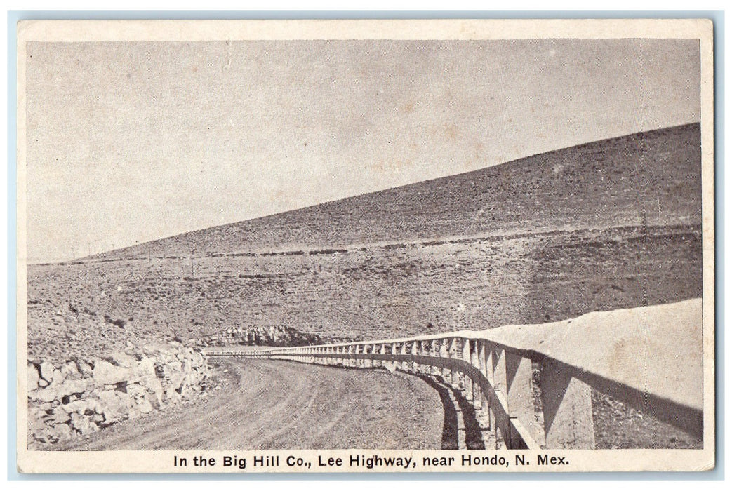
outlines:
[[[591,388],[702,435],[702,302],[592,312],[569,321],[296,348],[206,350],[439,375],[490,416],[512,449],[591,449]],[[539,367],[543,424],[532,394]],[[543,428],[542,428],[543,426]]]

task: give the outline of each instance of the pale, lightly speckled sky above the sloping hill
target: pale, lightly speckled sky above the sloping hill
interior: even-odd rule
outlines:
[[[29,42],[29,261],[699,121],[695,40]]]

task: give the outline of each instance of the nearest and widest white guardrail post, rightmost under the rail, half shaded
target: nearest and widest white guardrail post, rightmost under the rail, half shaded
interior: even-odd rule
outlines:
[[[548,449],[594,449],[590,386],[545,359],[541,372],[544,434]]]

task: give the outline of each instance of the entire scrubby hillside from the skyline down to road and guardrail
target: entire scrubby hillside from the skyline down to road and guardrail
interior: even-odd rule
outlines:
[[[29,266],[29,354],[272,326],[399,337],[698,297],[700,170],[692,124],[187,233],[151,258],[143,244]]]

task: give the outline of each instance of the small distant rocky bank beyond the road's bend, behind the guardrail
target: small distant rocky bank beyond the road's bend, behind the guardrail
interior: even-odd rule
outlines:
[[[262,345],[307,346],[324,342],[317,334],[299,331],[288,326],[249,326],[226,329],[198,340],[201,346]]]

